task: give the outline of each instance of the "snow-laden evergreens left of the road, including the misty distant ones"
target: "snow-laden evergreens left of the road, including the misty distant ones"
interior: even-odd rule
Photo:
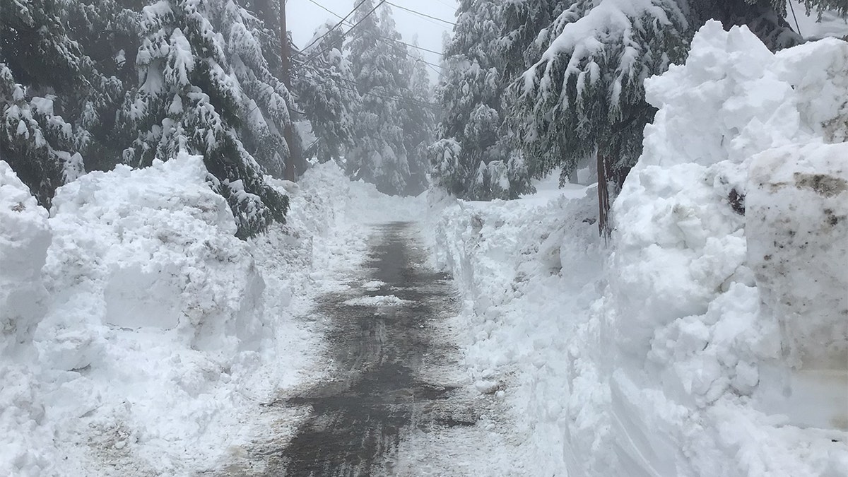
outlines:
[[[292,48],[291,81],[280,8],[2,0],[2,159],[49,207],[86,171],[202,154],[241,238],[285,221],[288,199],[265,177],[283,177],[298,153],[342,160],[387,194],[421,192],[435,113],[427,71],[388,7],[358,0],[354,29],[328,23]],[[287,129],[307,132],[287,140]]]

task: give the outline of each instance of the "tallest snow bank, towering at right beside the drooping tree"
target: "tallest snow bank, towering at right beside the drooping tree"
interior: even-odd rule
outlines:
[[[844,278],[832,279],[825,264],[845,263],[844,245],[834,247],[845,244],[845,229],[823,227],[822,219],[848,210],[844,199],[795,183],[844,174],[844,145],[823,142],[845,140],[848,43],[827,39],[773,54],[745,27],[725,32],[710,22],[686,65],[645,89],[660,111],[613,207],[607,319],[618,344],[610,362],[617,457],[645,474],[820,474],[844,463],[844,443],[752,407],[802,392],[778,378],[794,373],[798,362],[786,354],[798,341],[844,356],[845,317],[823,307],[844,296]],[[786,175],[793,186],[774,187]],[[789,230],[806,244],[786,242]],[[764,265],[770,251],[776,262]],[[823,303],[807,304],[805,317],[761,306],[803,307],[794,298],[801,296]],[[840,367],[845,373],[844,360]],[[844,384],[834,379],[824,395],[841,401],[805,393],[806,407],[834,412],[821,427],[840,442]],[[797,412],[789,422],[809,424]]]

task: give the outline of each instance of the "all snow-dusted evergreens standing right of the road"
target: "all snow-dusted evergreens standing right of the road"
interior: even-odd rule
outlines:
[[[804,0],[807,12],[844,0]],[[768,48],[803,42],[786,0],[460,0],[444,48],[430,149],[432,179],[463,199],[515,199],[559,169],[589,166],[600,232],[611,199],[642,153],[656,109],[644,79],[681,64],[706,20],[748,25]]]

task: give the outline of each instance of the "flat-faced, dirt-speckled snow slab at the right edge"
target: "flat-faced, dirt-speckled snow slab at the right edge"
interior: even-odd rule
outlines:
[[[770,149],[754,158],[749,181],[748,260],[792,359],[844,368],[848,143]]]

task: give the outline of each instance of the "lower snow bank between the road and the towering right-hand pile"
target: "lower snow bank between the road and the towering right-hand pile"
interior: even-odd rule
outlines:
[[[456,328],[471,381],[521,426],[527,458],[516,465],[552,475],[608,458],[596,449],[607,349],[589,320],[603,255],[596,190],[537,189],[507,202],[436,200],[431,230],[437,265],[466,298]]]

